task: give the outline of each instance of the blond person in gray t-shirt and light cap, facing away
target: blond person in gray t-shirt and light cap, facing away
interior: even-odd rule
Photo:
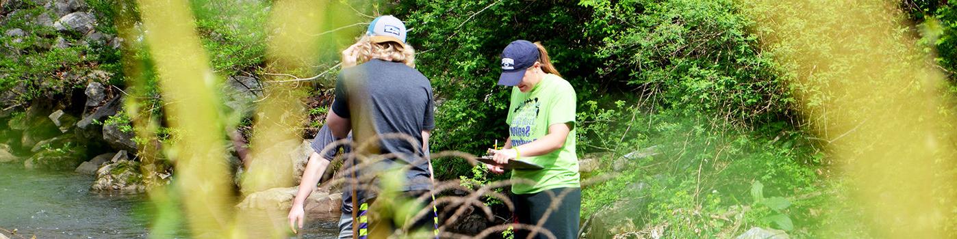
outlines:
[[[352,131],[357,143],[354,150],[360,158],[384,156],[361,168],[363,175],[373,176],[374,180],[359,182],[359,190],[353,195],[353,205],[359,210],[367,205],[375,207],[372,202],[377,200],[376,190],[369,187],[379,186],[378,180],[385,177],[380,173],[384,171],[403,170],[404,178],[400,180],[404,184],[400,188],[380,188],[401,191],[400,197],[417,198],[430,193],[433,187],[432,167],[427,159],[429,136],[435,126],[432,85],[413,68],[414,50],[405,44],[405,35],[401,21],[389,15],[380,16],[372,21],[367,35],[343,53],[344,69],[337,78],[336,96],[326,123],[337,138]],[[345,68],[358,60],[364,63]],[[370,146],[362,146],[367,142],[371,142]],[[393,220],[367,221],[365,212],[358,216],[359,222],[368,222],[356,225],[354,230],[360,231],[359,238],[390,235],[401,227],[392,225]],[[424,217],[406,224],[414,229],[429,225],[436,228],[432,221]]]

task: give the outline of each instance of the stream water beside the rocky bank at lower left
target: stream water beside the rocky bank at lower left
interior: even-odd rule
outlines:
[[[16,229],[11,238],[147,238],[154,210],[145,195],[91,192],[93,181],[93,176],[74,172],[0,163],[0,233],[11,236],[9,231]],[[300,238],[333,238],[336,227],[336,222],[310,222]],[[172,234],[189,238],[185,229]]]

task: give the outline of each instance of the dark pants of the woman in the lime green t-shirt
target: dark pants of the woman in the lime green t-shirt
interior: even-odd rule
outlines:
[[[565,194],[565,197],[560,197]],[[556,202],[560,201],[560,202]],[[582,208],[582,188],[562,187],[547,189],[531,194],[514,194],[512,202],[515,204],[515,216],[520,224],[539,225],[545,218],[542,229],[547,229],[558,239],[578,238],[578,220]],[[555,203],[554,209],[548,208]],[[545,212],[548,212],[545,214]],[[529,230],[516,228],[515,238],[528,237]],[[534,238],[548,238],[545,234],[536,233]]]

